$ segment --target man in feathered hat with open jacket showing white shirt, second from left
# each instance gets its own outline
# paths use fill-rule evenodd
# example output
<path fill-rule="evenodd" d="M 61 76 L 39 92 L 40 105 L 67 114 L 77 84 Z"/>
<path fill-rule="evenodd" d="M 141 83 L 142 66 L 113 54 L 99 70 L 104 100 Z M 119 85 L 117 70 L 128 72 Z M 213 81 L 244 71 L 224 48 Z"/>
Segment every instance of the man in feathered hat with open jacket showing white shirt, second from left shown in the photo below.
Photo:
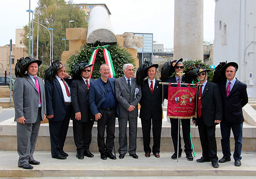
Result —
<path fill-rule="evenodd" d="M 44 74 L 47 103 L 47 118 L 51 140 L 51 154 L 55 159 L 67 159 L 63 151 L 70 123 L 72 103 L 70 96 L 71 78 L 59 61 L 54 61 Z"/>

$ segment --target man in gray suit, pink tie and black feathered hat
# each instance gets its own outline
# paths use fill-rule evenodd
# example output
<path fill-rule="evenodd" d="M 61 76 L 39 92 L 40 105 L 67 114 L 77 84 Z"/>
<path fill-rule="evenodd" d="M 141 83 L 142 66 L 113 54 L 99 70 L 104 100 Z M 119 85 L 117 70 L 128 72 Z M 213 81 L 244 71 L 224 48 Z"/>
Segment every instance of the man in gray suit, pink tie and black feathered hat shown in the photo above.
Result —
<path fill-rule="evenodd" d="M 40 60 L 20 58 L 15 66 L 13 102 L 17 122 L 18 167 L 32 169 L 39 165 L 33 157 L 41 120 L 46 117 L 44 82 L 37 77 Z M 26 73 L 27 71 L 27 73 Z M 31 165 L 30 165 L 31 164 Z"/>

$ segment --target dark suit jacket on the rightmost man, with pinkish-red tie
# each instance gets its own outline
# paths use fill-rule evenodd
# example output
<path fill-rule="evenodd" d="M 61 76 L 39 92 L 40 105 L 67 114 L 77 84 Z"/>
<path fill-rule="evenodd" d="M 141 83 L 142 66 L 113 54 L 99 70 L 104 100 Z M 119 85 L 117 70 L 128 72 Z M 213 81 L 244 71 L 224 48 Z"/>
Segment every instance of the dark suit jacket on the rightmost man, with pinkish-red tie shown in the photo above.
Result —
<path fill-rule="evenodd" d="M 244 122 L 242 108 L 248 102 L 247 85 L 236 79 L 227 97 L 226 82 L 227 80 L 223 80 L 219 84 L 223 105 L 223 120 L 232 124 L 241 124 Z"/>

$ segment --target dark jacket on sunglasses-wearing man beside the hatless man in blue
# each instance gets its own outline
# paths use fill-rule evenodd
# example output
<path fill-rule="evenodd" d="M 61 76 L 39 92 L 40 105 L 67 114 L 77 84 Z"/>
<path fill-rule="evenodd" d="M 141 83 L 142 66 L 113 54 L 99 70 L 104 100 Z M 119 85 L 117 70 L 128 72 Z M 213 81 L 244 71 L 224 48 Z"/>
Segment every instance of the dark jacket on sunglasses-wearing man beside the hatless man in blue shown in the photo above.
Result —
<path fill-rule="evenodd" d="M 90 84 L 93 79 L 90 78 Z M 71 101 L 73 112 L 72 120 L 75 119 L 75 113 L 81 112 L 81 120 L 79 122 L 86 122 L 89 118 L 93 119 L 93 115 L 89 106 L 89 90 L 83 79 L 73 80 L 70 88 Z"/>

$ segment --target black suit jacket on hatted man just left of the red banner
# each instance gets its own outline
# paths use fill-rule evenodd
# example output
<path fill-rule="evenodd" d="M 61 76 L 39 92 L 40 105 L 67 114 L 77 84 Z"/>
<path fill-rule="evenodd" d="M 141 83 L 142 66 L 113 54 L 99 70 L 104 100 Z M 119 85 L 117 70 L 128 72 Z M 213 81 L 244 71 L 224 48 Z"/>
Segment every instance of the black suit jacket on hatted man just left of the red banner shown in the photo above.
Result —
<path fill-rule="evenodd" d="M 152 118 L 152 120 L 162 120 L 163 90 L 162 85 L 160 85 L 159 82 L 159 80 L 156 80 L 153 94 L 151 94 L 148 80 L 144 81 L 144 85 L 141 87 L 140 119 L 151 120 Z"/>

